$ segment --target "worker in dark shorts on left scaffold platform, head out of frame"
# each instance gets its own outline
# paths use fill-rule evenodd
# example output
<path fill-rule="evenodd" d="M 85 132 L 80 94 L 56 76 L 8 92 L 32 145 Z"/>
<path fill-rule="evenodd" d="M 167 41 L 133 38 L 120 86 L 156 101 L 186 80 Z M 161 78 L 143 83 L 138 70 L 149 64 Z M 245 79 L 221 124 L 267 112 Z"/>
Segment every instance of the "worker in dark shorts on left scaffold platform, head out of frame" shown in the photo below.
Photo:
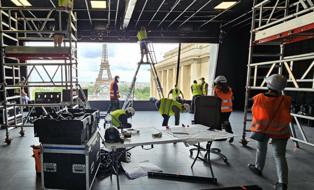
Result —
<path fill-rule="evenodd" d="M 55 14 L 55 31 L 60 30 L 59 11 L 61 11 L 61 31 L 68 31 L 69 11 L 66 8 L 73 8 L 73 0 L 58 0 L 58 6 L 63 7 L 62 10 L 57 10 Z M 55 47 L 61 47 L 65 33 L 55 33 L 53 43 Z"/>

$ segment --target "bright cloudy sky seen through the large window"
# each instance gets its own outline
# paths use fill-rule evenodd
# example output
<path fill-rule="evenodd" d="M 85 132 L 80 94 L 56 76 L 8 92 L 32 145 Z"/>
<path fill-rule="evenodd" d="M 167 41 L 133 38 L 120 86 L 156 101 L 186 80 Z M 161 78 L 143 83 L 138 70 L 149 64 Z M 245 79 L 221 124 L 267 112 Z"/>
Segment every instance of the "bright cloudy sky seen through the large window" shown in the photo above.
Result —
<path fill-rule="evenodd" d="M 27 44 L 26 44 L 27 45 Z M 53 46 L 53 43 L 31 42 L 31 46 Z M 108 59 L 110 64 L 111 75 L 120 76 L 120 81 L 130 82 L 133 79 L 137 63 L 140 60 L 140 48 L 136 43 L 108 43 Z M 178 44 L 154 44 L 154 50 L 157 61 L 163 60 L 164 53 L 178 47 Z M 78 81 L 94 81 L 96 80 L 101 63 L 102 43 L 78 43 Z M 146 61 L 146 58 L 144 58 Z M 31 61 L 32 63 L 40 63 L 42 61 Z M 50 61 L 55 63 L 57 61 Z M 50 81 L 41 66 L 36 66 L 44 80 Z M 138 82 L 149 82 L 150 73 L 149 65 L 142 65 L 137 75 Z M 57 66 L 46 66 L 51 77 Z M 39 75 L 34 72 L 31 81 L 41 81 Z M 61 81 L 61 71 L 59 70 L 54 81 Z"/>

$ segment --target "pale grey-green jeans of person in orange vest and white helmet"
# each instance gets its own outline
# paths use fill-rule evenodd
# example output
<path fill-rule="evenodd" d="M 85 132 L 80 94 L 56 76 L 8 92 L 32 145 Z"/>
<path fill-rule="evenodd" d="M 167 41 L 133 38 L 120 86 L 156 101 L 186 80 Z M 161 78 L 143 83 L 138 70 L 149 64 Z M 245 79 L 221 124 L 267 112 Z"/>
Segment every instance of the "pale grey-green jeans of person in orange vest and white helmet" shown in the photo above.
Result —
<path fill-rule="evenodd" d="M 265 135 L 263 142 L 256 141 L 256 163 L 255 167 L 263 171 L 265 166 L 268 140 L 270 137 Z M 279 183 L 288 184 L 288 164 L 286 160 L 286 146 L 288 139 L 272 139 L 273 155 L 276 162 Z"/>

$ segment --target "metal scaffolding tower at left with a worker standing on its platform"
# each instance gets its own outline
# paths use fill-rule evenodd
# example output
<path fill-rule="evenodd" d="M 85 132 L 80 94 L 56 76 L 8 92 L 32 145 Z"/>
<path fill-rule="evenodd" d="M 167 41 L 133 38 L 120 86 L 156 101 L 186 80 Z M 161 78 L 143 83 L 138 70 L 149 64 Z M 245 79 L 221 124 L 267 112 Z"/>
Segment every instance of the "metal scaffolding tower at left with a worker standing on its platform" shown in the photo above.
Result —
<path fill-rule="evenodd" d="M 15 127 L 21 127 L 19 133 L 23 136 L 25 134 L 24 127 L 33 127 L 33 125 L 26 125 L 26 121 L 30 116 L 34 107 L 41 107 L 43 112 L 47 114 L 45 106 L 70 106 L 70 108 L 78 108 L 79 103 L 83 104 L 83 107 L 90 108 L 87 98 L 85 97 L 82 88 L 78 84 L 78 61 L 77 61 L 77 16 L 72 12 L 72 8 L 66 8 L 68 10 L 68 30 L 61 30 L 61 10 L 64 8 L 34 8 L 34 7 L 2 7 L 0 2 L 0 47 L 1 47 L 1 68 L 3 80 L 1 83 L 1 91 L 3 93 L 3 101 L 1 105 L 4 106 L 3 120 L 5 122 L 6 138 L 4 142 L 10 144 L 12 138 L 9 137 L 9 131 Z M 26 18 L 23 11 L 47 11 L 46 18 Z M 53 28 L 52 30 L 45 29 L 45 25 L 48 20 L 53 20 L 50 17 L 53 11 L 59 11 L 59 29 Z M 14 12 L 14 13 L 13 13 Z M 18 13 L 22 16 L 18 18 Z M 14 14 L 14 16 L 12 16 Z M 34 21 L 43 21 L 42 26 L 39 28 L 35 25 Z M 20 23 L 21 22 L 21 23 Z M 13 24 L 12 24 L 13 23 Z M 23 30 L 19 30 L 18 25 L 24 27 Z M 4 30 L 7 29 L 7 30 Z M 34 30 L 35 29 L 35 30 Z M 66 33 L 68 37 L 64 40 L 68 41 L 68 46 L 64 43 L 64 47 L 36 47 L 36 46 L 19 46 L 19 40 L 28 41 L 42 41 L 53 40 L 53 33 Z M 73 34 L 74 33 L 74 34 Z M 49 37 L 45 37 L 49 35 Z M 10 46 L 4 43 L 13 40 L 16 46 Z M 8 63 L 9 59 L 13 59 L 15 63 Z M 28 60 L 41 60 L 41 63 L 27 63 Z M 57 62 L 51 63 L 51 60 L 63 60 L 64 63 Z M 25 63 L 21 63 L 21 62 Z M 45 66 L 57 66 L 54 73 L 49 74 Z M 20 66 L 30 66 L 30 71 L 26 76 L 24 84 L 20 82 Z M 41 66 L 50 81 L 44 81 L 36 66 Z M 30 75 L 34 72 L 38 73 L 42 81 L 29 81 Z M 55 81 L 54 77 L 57 72 L 61 71 L 61 81 Z M 7 76 L 9 72 L 12 72 L 12 76 Z M 21 102 L 21 87 L 65 87 L 70 89 L 70 103 L 57 103 L 57 104 L 22 104 Z M 18 89 L 18 96 L 9 96 L 8 91 Z M 83 97 L 86 101 L 84 105 L 83 101 L 78 98 L 78 94 L 73 96 L 73 90 L 78 92 L 81 90 Z M 17 92 L 15 90 L 15 92 Z M 8 103 L 8 100 L 19 99 L 16 104 Z M 23 106 L 30 106 L 30 111 L 26 118 L 23 120 Z M 21 113 L 16 114 L 15 107 L 21 108 Z M 14 115 L 8 116 L 8 110 L 14 109 Z M 20 122 L 17 118 L 21 118 Z M 9 120 L 14 119 L 14 125 L 8 123 Z"/>

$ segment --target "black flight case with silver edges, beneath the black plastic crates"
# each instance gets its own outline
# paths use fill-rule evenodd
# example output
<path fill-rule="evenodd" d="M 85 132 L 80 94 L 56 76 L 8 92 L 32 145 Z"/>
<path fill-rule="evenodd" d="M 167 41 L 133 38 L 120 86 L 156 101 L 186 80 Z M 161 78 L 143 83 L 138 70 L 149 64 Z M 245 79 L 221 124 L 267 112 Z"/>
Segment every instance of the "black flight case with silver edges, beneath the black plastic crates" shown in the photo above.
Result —
<path fill-rule="evenodd" d="M 82 145 L 41 143 L 41 184 L 50 190 L 89 190 L 100 165 L 97 129 Z"/>

